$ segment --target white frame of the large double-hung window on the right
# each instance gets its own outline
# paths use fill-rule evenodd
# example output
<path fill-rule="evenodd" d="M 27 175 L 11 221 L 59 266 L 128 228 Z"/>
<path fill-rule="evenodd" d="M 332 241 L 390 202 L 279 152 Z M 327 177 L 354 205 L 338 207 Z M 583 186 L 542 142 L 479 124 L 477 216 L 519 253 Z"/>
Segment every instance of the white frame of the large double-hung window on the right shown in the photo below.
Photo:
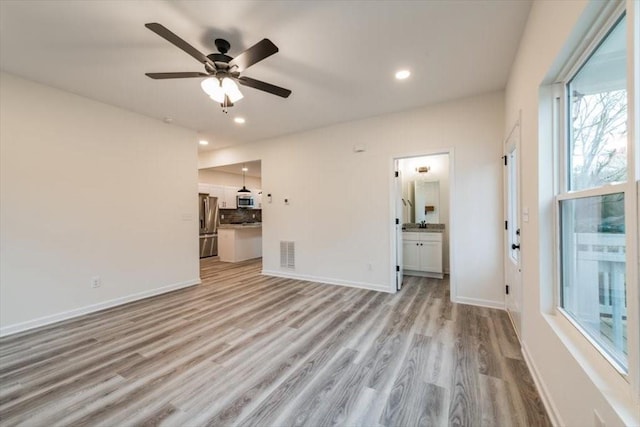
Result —
<path fill-rule="evenodd" d="M 638 269 L 640 260 L 638 258 L 638 245 L 640 240 L 639 220 L 638 220 L 638 193 L 640 192 L 640 144 L 638 143 L 637 126 L 638 118 L 638 86 L 640 82 L 636 80 L 635 74 L 638 72 L 640 58 L 638 58 L 637 26 L 640 18 L 638 13 L 640 8 L 630 5 L 625 7 L 625 2 L 614 4 L 606 8 L 601 15 L 603 18 L 598 25 L 594 26 L 589 34 L 585 35 L 585 42 L 581 48 L 576 50 L 576 54 L 567 62 L 564 70 L 556 79 L 553 86 L 553 135 L 554 135 L 554 240 L 555 240 L 555 256 L 554 256 L 554 307 L 555 312 L 560 314 L 569 322 L 577 331 L 580 332 L 582 338 L 589 342 L 609 363 L 612 369 L 620 374 L 620 376 L 629 383 L 633 394 L 640 395 L 640 324 L 638 311 L 640 309 Z M 629 9 L 629 10 L 626 10 Z M 567 114 L 567 93 L 566 88 L 569 81 L 578 73 L 584 63 L 588 61 L 592 53 L 597 49 L 604 38 L 609 34 L 623 14 L 627 16 L 627 105 L 628 105 L 628 134 L 627 134 L 627 179 L 624 183 L 609 184 L 598 188 L 589 188 L 586 190 L 567 191 L 568 188 L 568 136 L 567 123 L 569 115 Z M 630 13 L 629 13 L 630 12 Z M 637 40 L 637 39 L 636 39 Z M 635 73 L 635 74 L 634 74 Z M 626 243 L 626 280 L 627 280 L 627 369 L 626 372 L 608 353 L 595 342 L 586 331 L 561 307 L 561 214 L 560 203 L 564 200 L 581 199 L 591 196 L 601 196 L 613 193 L 624 193 L 625 200 L 625 243 Z"/>

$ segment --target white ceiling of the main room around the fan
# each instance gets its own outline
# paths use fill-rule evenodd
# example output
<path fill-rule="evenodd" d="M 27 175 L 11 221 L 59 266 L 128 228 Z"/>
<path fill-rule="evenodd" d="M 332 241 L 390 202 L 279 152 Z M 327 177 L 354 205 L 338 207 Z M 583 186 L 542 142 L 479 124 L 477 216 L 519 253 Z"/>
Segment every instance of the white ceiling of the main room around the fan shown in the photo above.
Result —
<path fill-rule="evenodd" d="M 201 150 L 256 141 L 504 88 L 529 13 L 525 0 L 0 1 L 0 68 L 175 125 Z M 203 66 L 144 27 L 159 22 L 205 54 L 235 56 L 262 38 L 280 52 L 243 75 L 291 89 L 241 86 L 227 114 L 200 79 L 145 72 Z M 393 74 L 409 68 L 412 76 Z M 237 125 L 235 116 L 246 118 Z M 197 141 L 194 141 L 197 144 Z"/>

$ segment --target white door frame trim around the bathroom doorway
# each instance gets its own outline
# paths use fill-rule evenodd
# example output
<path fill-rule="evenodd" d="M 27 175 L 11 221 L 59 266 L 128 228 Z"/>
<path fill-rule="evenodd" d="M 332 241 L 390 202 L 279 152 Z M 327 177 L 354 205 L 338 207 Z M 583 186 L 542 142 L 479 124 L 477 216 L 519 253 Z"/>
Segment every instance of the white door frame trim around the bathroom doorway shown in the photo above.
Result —
<path fill-rule="evenodd" d="M 395 155 L 389 159 L 389 241 L 391 242 L 390 246 L 390 257 L 389 257 L 389 291 L 391 293 L 396 293 L 396 265 L 401 265 L 402 260 L 398 259 L 397 256 L 397 245 L 402 245 L 402 241 L 398 241 L 397 233 L 396 233 L 396 203 L 399 199 L 402 198 L 402 194 L 398 194 L 396 190 L 396 162 L 402 159 L 410 159 L 413 157 L 428 157 L 428 156 L 436 156 L 441 154 L 447 154 L 449 156 L 449 289 L 450 295 L 449 298 L 451 301 L 455 301 L 458 295 L 458 287 L 457 287 L 457 268 L 456 268 L 456 257 L 455 257 L 455 247 L 456 247 L 456 230 L 457 230 L 457 217 L 455 212 L 455 155 L 454 148 L 440 148 L 433 150 L 424 150 L 417 153 L 406 153 L 402 155 Z M 400 218 L 402 223 L 402 218 Z M 400 263 L 400 264 L 398 264 Z"/>

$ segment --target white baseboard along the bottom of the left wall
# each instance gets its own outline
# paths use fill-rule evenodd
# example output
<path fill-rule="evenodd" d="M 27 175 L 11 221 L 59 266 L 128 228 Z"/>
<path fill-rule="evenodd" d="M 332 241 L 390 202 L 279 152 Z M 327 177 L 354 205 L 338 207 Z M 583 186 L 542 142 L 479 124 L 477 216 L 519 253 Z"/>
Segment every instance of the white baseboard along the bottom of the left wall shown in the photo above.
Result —
<path fill-rule="evenodd" d="M 94 313 L 96 311 L 104 310 L 106 308 L 111 308 L 117 305 L 122 305 L 129 302 L 141 300 L 144 298 L 149 298 L 155 295 L 164 294 L 167 292 L 175 291 L 178 289 L 186 288 L 186 287 L 197 285 L 200 283 L 201 283 L 201 280 L 198 277 L 197 279 L 187 280 L 179 283 L 173 283 L 171 285 L 163 286 L 161 288 L 138 292 L 136 294 L 127 295 L 121 298 L 116 298 L 109 301 L 100 302 L 97 304 L 87 305 L 84 307 L 75 308 L 73 310 L 63 311 L 62 313 L 56 313 L 49 316 L 39 317 L 37 319 L 27 320 L 26 322 L 14 323 L 13 325 L 1 327 L 0 337 L 17 334 L 19 332 L 28 331 L 29 329 L 39 328 L 41 326 L 50 325 L 52 323 L 57 323 L 63 320 L 72 319 L 74 317 L 82 316 L 84 314 Z"/>

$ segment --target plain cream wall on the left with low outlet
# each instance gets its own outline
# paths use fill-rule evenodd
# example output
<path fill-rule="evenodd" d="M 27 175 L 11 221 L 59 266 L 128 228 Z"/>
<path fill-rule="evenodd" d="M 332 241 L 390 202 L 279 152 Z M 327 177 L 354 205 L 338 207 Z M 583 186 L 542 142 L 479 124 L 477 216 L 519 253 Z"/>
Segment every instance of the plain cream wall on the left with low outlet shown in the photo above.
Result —
<path fill-rule="evenodd" d="M 0 94 L 0 333 L 199 282 L 195 132 L 4 73 Z"/>

